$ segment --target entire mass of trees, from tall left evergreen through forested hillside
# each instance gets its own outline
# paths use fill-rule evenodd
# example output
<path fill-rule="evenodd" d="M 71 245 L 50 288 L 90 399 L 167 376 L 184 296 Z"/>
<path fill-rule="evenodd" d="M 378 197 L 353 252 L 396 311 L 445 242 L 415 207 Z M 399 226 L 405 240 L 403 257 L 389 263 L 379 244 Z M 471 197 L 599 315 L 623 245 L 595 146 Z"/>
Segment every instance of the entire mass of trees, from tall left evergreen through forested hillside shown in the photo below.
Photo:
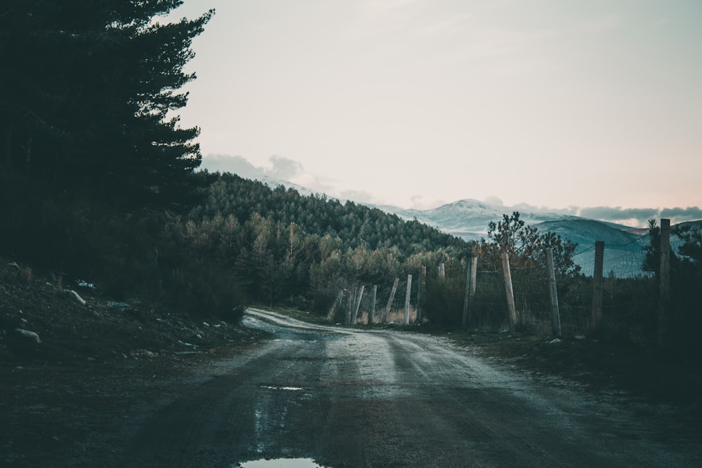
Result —
<path fill-rule="evenodd" d="M 0 7 L 0 253 L 57 282 L 233 318 L 254 302 L 321 311 L 335 288 L 467 255 L 380 210 L 195 173 L 199 128 L 177 112 L 214 11 L 162 22 L 181 3 Z"/>

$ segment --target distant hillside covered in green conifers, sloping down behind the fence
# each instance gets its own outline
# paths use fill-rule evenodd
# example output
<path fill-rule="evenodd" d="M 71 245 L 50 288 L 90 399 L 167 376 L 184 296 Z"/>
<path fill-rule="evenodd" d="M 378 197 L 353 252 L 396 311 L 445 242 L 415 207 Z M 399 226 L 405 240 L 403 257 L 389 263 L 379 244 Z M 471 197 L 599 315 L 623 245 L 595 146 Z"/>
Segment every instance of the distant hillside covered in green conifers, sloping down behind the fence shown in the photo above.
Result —
<path fill-rule="evenodd" d="M 233 272 L 249 302 L 326 312 L 338 290 L 392 283 L 427 262 L 461 260 L 469 244 L 417 221 L 324 196 L 270 189 L 236 175 L 213 180 L 206 201 L 169 224 L 195 255 Z M 312 302 L 310 302 L 312 301 Z"/>

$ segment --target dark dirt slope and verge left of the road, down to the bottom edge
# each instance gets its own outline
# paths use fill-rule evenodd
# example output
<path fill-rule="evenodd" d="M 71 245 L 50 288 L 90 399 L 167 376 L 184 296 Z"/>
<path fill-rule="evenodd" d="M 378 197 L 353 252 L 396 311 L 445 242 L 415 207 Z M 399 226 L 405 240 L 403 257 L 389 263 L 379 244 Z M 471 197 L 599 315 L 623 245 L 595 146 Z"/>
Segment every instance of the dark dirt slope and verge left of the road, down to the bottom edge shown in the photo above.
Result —
<path fill-rule="evenodd" d="M 75 283 L 59 288 L 0 258 L 0 466 L 71 460 L 135 405 L 177 391 L 193 368 L 257 335 Z"/>

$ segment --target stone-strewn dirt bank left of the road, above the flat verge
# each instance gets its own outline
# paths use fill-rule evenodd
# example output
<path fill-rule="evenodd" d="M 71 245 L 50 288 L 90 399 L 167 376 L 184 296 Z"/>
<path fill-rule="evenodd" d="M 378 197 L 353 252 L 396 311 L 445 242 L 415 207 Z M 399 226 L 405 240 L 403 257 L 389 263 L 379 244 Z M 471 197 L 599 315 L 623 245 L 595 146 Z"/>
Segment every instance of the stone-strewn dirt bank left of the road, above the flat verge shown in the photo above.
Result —
<path fill-rule="evenodd" d="M 114 300 L 92 285 L 60 285 L 0 258 L 0 361 L 6 364 L 154 357 L 243 334 L 232 324 L 194 321 L 158 304 Z"/>

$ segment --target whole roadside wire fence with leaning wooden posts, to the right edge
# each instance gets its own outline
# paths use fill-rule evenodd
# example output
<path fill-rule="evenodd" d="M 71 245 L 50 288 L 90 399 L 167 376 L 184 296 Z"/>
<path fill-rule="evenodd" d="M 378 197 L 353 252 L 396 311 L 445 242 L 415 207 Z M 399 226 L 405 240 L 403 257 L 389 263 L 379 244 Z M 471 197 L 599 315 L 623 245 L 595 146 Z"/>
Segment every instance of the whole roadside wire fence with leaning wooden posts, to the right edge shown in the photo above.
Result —
<path fill-rule="evenodd" d="M 628 243 L 604 245 L 602 250 L 585 246 L 574 253 L 580 271 L 554 273 L 555 285 L 546 262 L 527 266 L 508 262 L 507 275 L 504 264 L 479 259 L 475 283 L 470 281 L 470 262 L 465 260 L 428 265 L 423 271 L 411 269 L 411 278 L 377 285 L 374 297 L 373 285 L 365 285 L 363 295 L 362 285 L 347 287 L 330 318 L 334 315 L 338 322 L 352 323 L 353 314 L 347 311 L 357 311 L 357 324 L 432 323 L 470 330 L 602 337 L 635 345 L 658 341 L 662 346 L 664 335 L 675 335 L 679 342 L 696 340 L 691 334 L 702 328 L 702 271 L 694 262 L 683 265 L 676 260 L 677 267 L 669 265 L 670 285 L 665 286 L 671 297 L 665 297 L 663 269 L 655 274 L 644 270 L 644 265 L 651 269 L 649 241 L 648 236 L 640 236 Z M 669 243 L 669 247 L 674 252 L 677 246 Z M 662 264 L 663 257 L 657 258 Z"/>

